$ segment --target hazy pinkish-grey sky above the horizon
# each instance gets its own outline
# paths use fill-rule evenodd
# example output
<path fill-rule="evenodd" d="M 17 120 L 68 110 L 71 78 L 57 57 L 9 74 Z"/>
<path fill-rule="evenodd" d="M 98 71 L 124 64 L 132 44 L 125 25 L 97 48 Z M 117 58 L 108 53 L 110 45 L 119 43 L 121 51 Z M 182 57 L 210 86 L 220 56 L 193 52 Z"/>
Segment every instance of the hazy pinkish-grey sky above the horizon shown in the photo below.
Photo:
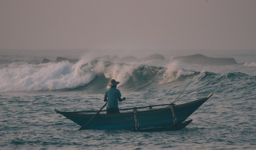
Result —
<path fill-rule="evenodd" d="M 0 49 L 256 49 L 256 0 L 0 0 Z"/>

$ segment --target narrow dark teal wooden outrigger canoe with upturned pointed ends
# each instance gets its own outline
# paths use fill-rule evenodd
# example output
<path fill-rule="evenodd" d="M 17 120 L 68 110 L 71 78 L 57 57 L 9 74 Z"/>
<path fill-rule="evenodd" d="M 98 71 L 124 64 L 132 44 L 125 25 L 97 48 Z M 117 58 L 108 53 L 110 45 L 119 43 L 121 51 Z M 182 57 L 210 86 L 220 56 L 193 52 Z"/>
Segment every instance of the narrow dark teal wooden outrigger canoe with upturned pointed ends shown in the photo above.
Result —
<path fill-rule="evenodd" d="M 178 130 L 184 128 L 192 121 L 192 119 L 188 121 L 185 120 L 211 96 L 212 93 L 202 99 L 180 105 L 163 104 L 120 109 L 121 113 L 119 114 L 106 114 L 100 113 L 99 111 L 66 112 L 58 111 L 57 109 L 54 109 L 54 111 L 80 125 L 80 130 Z M 162 108 L 153 108 L 160 106 L 162 106 Z M 126 112 L 122 113 L 122 111 Z"/>

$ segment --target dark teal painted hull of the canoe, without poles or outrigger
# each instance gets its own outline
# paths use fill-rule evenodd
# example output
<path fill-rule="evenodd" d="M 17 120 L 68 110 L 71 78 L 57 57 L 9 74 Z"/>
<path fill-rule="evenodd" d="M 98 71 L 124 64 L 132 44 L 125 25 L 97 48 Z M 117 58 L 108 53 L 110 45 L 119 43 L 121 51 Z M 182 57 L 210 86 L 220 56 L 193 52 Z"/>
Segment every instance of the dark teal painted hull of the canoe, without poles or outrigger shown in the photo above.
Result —
<path fill-rule="evenodd" d="M 205 101 L 212 96 L 212 93 L 203 99 L 192 101 L 181 105 L 174 105 L 174 113 L 176 115 L 176 123 L 182 124 L 194 111 L 196 111 Z M 76 112 L 62 112 L 56 110 L 66 118 L 72 120 L 80 126 L 84 126 L 95 114 L 76 113 Z M 120 114 L 97 114 L 86 129 L 104 130 L 104 129 L 125 129 L 132 130 L 133 128 L 149 129 L 149 128 L 163 128 L 170 127 L 174 124 L 174 117 L 170 107 L 150 110 L 137 110 L 136 118 L 138 126 L 134 118 L 134 112 L 120 113 Z M 192 120 L 191 120 L 192 121 Z M 190 122 L 191 122 L 190 121 Z M 189 122 L 189 123 L 190 123 Z M 188 124 L 189 124 L 188 123 Z M 187 125 L 187 124 L 186 124 Z M 180 125 L 182 126 L 182 125 Z M 174 127 L 174 126 L 172 126 Z"/>

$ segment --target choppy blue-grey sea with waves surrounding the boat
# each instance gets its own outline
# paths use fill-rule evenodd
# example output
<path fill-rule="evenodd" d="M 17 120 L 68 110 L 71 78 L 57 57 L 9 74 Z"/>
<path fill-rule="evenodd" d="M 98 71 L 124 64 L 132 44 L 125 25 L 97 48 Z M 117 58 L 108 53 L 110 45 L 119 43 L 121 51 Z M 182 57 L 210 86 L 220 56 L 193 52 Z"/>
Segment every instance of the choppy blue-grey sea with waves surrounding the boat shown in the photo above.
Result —
<path fill-rule="evenodd" d="M 1 150 L 256 149 L 255 49 L 88 51 L 0 50 Z M 174 60 L 194 54 L 237 64 Z M 78 130 L 54 111 L 98 111 L 111 79 L 126 97 L 120 109 L 213 95 L 174 131 Z"/>

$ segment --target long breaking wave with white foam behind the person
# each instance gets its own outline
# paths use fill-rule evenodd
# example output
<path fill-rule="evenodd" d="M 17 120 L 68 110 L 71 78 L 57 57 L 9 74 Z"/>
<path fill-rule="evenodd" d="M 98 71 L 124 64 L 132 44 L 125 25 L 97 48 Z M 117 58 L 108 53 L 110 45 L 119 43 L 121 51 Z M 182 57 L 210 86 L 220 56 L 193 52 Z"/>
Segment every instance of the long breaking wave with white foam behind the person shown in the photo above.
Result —
<path fill-rule="evenodd" d="M 118 87 L 140 91 L 165 87 L 170 89 L 187 84 L 218 85 L 226 78 L 241 73 L 220 75 L 205 71 L 186 70 L 174 62 L 162 67 L 146 64 L 114 63 L 81 59 L 77 63 L 29 64 L 12 63 L 0 69 L 0 91 L 89 90 L 102 92 L 110 79 L 120 81 Z M 246 76 L 246 74 L 242 74 Z"/>

